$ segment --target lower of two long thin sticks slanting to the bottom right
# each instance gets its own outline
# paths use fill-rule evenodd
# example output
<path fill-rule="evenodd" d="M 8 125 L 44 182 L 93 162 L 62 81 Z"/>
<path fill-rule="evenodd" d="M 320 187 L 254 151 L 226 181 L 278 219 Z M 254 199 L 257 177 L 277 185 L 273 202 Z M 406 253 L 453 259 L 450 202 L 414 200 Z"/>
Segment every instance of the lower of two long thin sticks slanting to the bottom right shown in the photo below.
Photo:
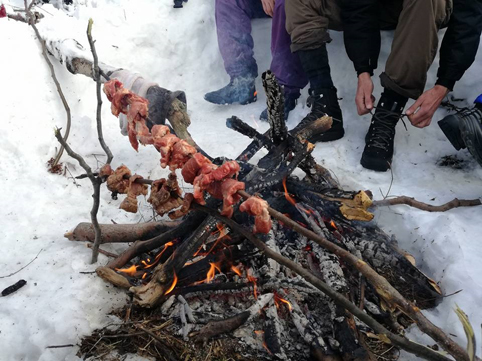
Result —
<path fill-rule="evenodd" d="M 414 355 L 417 355 L 418 357 L 422 357 L 426 360 L 437 360 L 437 361 L 449 361 L 450 359 L 443 356 L 442 354 L 425 347 L 423 345 L 420 345 L 418 343 L 412 342 L 405 337 L 396 335 L 389 330 L 387 330 L 383 325 L 378 323 L 376 320 L 374 320 L 372 317 L 370 317 L 368 314 L 365 312 L 361 311 L 356 305 L 354 305 L 351 301 L 349 301 L 347 298 L 342 296 L 341 294 L 335 292 L 332 288 L 330 288 L 326 283 L 324 283 L 322 280 L 320 280 L 318 277 L 316 277 L 313 273 L 310 271 L 302 268 L 300 265 L 297 263 L 291 261 L 290 259 L 282 256 L 281 254 L 273 251 L 271 248 L 266 246 L 265 243 L 260 241 L 256 236 L 254 236 L 251 231 L 247 230 L 246 228 L 242 227 L 232 219 L 223 217 L 219 215 L 219 213 L 215 210 L 212 210 L 210 208 L 200 206 L 196 204 L 195 209 L 202 210 L 203 212 L 206 212 L 207 214 L 219 219 L 223 223 L 225 223 L 227 226 L 229 226 L 232 230 L 241 233 L 244 237 L 246 237 L 251 243 L 253 243 L 259 250 L 261 250 L 267 257 L 275 260 L 279 264 L 289 268 L 293 272 L 299 274 L 301 277 L 303 277 L 306 281 L 311 283 L 313 286 L 318 288 L 321 292 L 326 294 L 328 297 L 330 297 L 336 304 L 344 307 L 348 312 L 352 313 L 354 316 L 358 317 L 361 321 L 363 321 L 365 324 L 367 324 L 369 327 L 371 327 L 375 332 L 377 332 L 380 335 L 385 335 L 394 345 L 404 349 L 407 352 L 410 352 Z M 283 221 L 284 222 L 284 221 Z M 446 346 L 446 345 L 445 345 Z M 458 345 L 457 345 L 458 346 Z M 463 351 L 463 350 L 462 350 Z M 460 353 L 459 356 L 464 356 L 464 353 Z M 465 353 L 465 356 L 467 354 Z M 465 358 L 456 358 L 457 360 L 465 360 Z M 468 356 L 467 356 L 468 360 Z"/>

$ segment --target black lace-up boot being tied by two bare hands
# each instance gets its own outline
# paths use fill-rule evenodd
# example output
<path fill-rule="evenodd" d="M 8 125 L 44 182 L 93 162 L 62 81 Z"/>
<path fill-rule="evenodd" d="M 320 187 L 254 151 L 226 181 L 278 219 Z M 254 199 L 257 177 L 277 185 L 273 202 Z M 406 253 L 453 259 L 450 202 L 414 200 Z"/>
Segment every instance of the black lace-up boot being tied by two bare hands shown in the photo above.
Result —
<path fill-rule="evenodd" d="M 392 91 L 383 92 L 365 137 L 366 145 L 360 161 L 363 167 L 379 172 L 386 172 L 391 167 L 395 126 L 407 100 Z"/>

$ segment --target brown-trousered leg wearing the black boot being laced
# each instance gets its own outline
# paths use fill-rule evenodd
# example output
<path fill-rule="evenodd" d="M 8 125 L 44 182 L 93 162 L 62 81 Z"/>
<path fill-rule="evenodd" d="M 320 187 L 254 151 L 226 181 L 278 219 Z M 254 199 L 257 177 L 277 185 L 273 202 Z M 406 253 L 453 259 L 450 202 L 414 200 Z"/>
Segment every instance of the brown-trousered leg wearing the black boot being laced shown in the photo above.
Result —
<path fill-rule="evenodd" d="M 361 164 L 367 169 L 385 172 L 391 168 L 396 125 L 408 98 L 416 99 L 423 93 L 437 52 L 437 32 L 447 21 L 448 1 L 398 0 L 382 9 L 381 24 L 390 26 L 397 18 L 398 23 L 385 72 L 380 76 L 384 92 L 365 138 Z"/>

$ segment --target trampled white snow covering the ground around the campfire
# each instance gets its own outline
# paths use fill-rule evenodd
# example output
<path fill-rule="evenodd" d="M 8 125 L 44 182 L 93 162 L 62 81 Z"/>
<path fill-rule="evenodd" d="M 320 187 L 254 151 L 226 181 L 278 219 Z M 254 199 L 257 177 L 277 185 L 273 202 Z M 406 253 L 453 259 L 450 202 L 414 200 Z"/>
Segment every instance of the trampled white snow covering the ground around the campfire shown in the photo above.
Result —
<path fill-rule="evenodd" d="M 0 0 L 1 2 L 1 0 Z M 3 1 L 22 6 L 21 0 Z M 184 90 L 192 119 L 190 132 L 208 153 L 235 157 L 249 140 L 225 127 L 233 114 L 259 126 L 265 97 L 248 106 L 215 106 L 203 94 L 225 85 L 228 76 L 217 48 L 214 0 L 189 1 L 184 9 L 172 2 L 150 0 L 78 0 L 69 12 L 44 5 L 45 18 L 38 24 L 43 36 L 75 38 L 88 49 L 85 36 L 89 17 L 94 19 L 93 35 L 102 62 L 133 71 L 172 90 Z M 0 289 L 19 279 L 28 283 L 17 293 L 0 299 L 0 360 L 76 360 L 76 347 L 46 349 L 49 345 L 76 344 L 82 336 L 109 322 L 108 312 L 126 300 L 124 291 L 107 285 L 93 274 L 105 264 L 89 263 L 91 251 L 81 243 L 69 242 L 64 232 L 89 220 L 91 186 L 88 180 L 74 182 L 67 176 L 52 175 L 45 163 L 58 147 L 54 128 L 65 128 L 65 112 L 51 80 L 48 67 L 33 30 L 26 24 L 0 19 L 0 277 L 9 275 L 38 258 L 14 276 L 0 278 Z M 270 21 L 253 21 L 256 57 L 260 72 L 270 63 Z M 390 188 L 391 174 L 375 173 L 361 167 L 369 117 L 358 117 L 354 106 L 356 76 L 343 48 L 341 34 L 333 34 L 329 45 L 333 77 L 343 98 L 346 136 L 336 142 L 318 144 L 315 158 L 331 169 L 340 183 L 352 189 L 370 189 L 381 199 Z M 386 59 L 389 37 L 384 35 L 380 63 Z M 456 85 L 454 95 L 472 101 L 482 92 L 482 54 Z M 95 129 L 96 96 L 94 82 L 74 76 L 54 61 L 73 124 L 69 143 L 97 168 L 105 159 Z M 430 71 L 428 86 L 435 81 L 437 64 Z M 379 70 L 380 71 L 380 70 Z M 378 71 L 378 73 L 379 73 Z M 378 82 L 377 82 L 378 83 Z M 258 83 L 258 89 L 262 89 Z M 380 94 L 377 86 L 376 94 Z M 291 113 L 289 127 L 295 126 L 308 109 L 306 90 Z M 435 119 L 444 115 L 440 110 Z M 136 153 L 120 134 L 118 120 L 104 103 L 103 124 L 106 142 L 113 151 L 113 165 L 126 164 L 145 177 L 158 178 L 165 171 L 152 147 Z M 255 121 L 256 120 L 256 121 Z M 393 185 L 390 195 L 408 195 L 434 204 L 455 197 L 482 196 L 482 168 L 467 152 L 461 170 L 440 167 L 437 161 L 455 154 L 435 122 L 420 130 L 408 124 L 397 127 Z M 82 173 L 67 156 L 62 161 L 73 175 Z M 100 221 L 109 223 L 148 220 L 151 211 L 144 202 L 140 215 L 118 210 L 120 200 L 102 193 Z M 424 272 L 440 281 L 447 297 L 426 315 L 465 345 L 463 329 L 453 312 L 458 304 L 469 316 L 479 342 L 482 323 L 482 208 L 459 208 L 446 213 L 426 213 L 405 206 L 376 211 L 375 222 L 393 233 L 402 248 L 411 252 Z M 107 247 L 106 247 L 107 248 Z M 108 250 L 116 250 L 114 247 Z M 480 263 L 479 263 L 480 262 Z M 426 338 L 412 334 L 422 342 Z M 403 356 L 409 359 L 408 356 Z"/>

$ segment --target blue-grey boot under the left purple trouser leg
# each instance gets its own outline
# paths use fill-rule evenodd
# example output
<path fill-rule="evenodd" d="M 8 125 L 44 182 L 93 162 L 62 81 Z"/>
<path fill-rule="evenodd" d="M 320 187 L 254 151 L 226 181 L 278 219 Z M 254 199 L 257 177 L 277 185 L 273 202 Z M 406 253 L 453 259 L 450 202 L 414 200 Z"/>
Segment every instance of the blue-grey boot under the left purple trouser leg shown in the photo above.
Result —
<path fill-rule="evenodd" d="M 253 78 L 233 78 L 224 88 L 206 93 L 204 99 L 214 104 L 249 104 L 256 101 Z"/>

